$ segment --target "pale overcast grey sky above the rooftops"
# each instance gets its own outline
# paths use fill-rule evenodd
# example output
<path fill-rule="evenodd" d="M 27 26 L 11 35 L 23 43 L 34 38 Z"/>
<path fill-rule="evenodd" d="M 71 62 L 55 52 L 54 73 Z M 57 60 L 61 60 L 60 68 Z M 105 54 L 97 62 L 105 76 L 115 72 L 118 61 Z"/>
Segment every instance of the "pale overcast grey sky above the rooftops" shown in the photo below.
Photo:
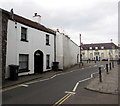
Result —
<path fill-rule="evenodd" d="M 41 23 L 64 30 L 79 45 L 83 43 L 118 43 L 119 0 L 0 0 L 0 8 L 31 19 L 35 12 Z"/>

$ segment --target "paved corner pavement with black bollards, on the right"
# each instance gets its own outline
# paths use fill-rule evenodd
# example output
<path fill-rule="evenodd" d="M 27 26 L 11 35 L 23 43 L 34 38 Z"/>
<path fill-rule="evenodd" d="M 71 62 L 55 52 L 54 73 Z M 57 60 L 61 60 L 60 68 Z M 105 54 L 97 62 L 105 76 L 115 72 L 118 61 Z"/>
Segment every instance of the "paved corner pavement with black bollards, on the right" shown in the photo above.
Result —
<path fill-rule="evenodd" d="M 106 71 L 103 71 L 102 82 L 100 82 L 99 76 L 97 76 L 93 78 L 85 88 L 100 93 L 118 94 L 119 69 L 120 65 L 116 65 L 112 70 L 109 69 L 109 74 L 107 74 Z"/>

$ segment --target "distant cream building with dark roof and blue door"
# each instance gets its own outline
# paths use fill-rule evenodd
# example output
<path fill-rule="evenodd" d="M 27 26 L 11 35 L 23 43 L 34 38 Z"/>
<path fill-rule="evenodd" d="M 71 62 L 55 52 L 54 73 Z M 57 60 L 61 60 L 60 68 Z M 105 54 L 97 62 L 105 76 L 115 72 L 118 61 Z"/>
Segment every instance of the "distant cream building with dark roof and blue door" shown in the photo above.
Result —
<path fill-rule="evenodd" d="M 119 47 L 114 43 L 82 44 L 83 60 L 117 60 Z"/>

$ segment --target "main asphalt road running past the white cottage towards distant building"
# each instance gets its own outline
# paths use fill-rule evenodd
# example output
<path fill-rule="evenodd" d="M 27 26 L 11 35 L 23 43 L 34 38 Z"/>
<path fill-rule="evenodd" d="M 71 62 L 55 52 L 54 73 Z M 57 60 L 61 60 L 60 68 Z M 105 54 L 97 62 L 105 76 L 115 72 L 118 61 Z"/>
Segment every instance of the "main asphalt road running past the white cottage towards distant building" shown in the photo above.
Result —
<path fill-rule="evenodd" d="M 78 81 L 97 72 L 98 66 L 100 65 L 73 70 L 5 91 L 2 93 L 3 104 L 54 104 L 66 95 L 66 91 L 72 91 Z"/>

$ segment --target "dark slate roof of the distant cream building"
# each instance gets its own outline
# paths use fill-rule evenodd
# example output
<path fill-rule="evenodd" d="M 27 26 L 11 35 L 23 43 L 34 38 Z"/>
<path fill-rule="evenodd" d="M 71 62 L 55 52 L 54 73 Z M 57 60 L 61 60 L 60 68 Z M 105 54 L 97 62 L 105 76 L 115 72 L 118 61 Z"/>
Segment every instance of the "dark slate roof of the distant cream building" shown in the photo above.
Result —
<path fill-rule="evenodd" d="M 82 44 L 81 47 L 83 50 L 90 50 L 90 47 L 92 47 L 92 50 L 95 50 L 95 47 L 98 47 L 98 50 L 103 50 L 101 47 L 104 47 L 104 49 L 119 49 L 114 43 Z"/>

